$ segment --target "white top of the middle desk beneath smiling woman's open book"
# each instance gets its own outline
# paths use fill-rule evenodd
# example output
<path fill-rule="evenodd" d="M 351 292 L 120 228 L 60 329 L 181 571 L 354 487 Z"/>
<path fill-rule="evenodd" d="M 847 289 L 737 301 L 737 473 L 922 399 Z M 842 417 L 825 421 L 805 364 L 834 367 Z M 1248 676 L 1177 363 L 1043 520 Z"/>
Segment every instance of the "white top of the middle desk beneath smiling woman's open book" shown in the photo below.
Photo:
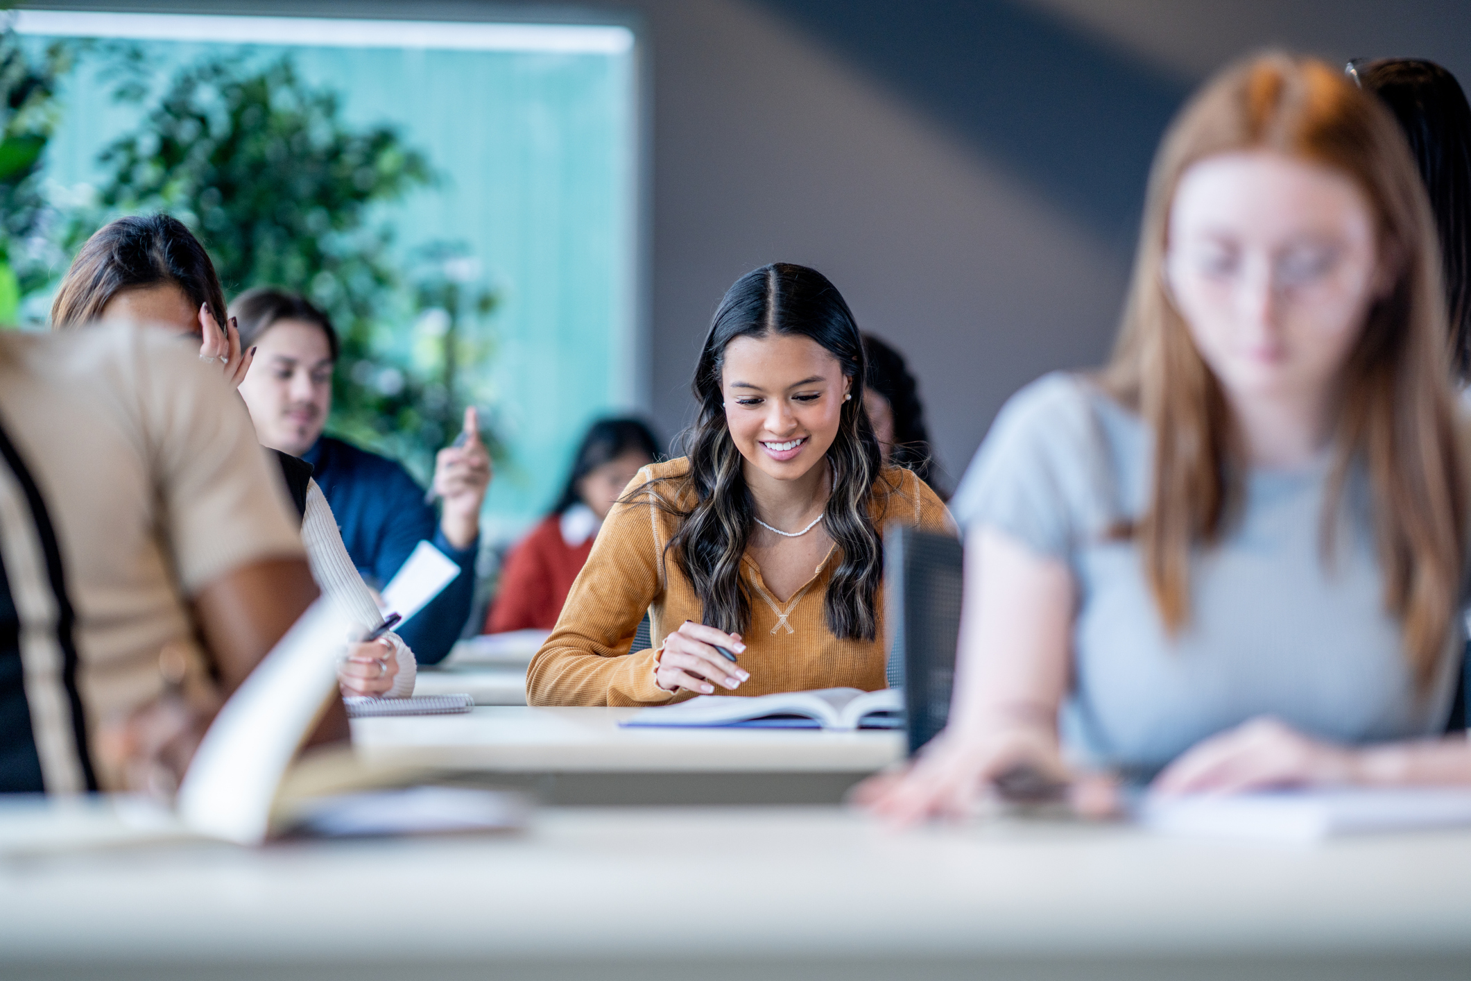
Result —
<path fill-rule="evenodd" d="M 503 772 L 872 772 L 903 757 L 903 732 L 625 729 L 637 709 L 477 707 L 465 715 L 353 719 L 368 763 Z"/>

